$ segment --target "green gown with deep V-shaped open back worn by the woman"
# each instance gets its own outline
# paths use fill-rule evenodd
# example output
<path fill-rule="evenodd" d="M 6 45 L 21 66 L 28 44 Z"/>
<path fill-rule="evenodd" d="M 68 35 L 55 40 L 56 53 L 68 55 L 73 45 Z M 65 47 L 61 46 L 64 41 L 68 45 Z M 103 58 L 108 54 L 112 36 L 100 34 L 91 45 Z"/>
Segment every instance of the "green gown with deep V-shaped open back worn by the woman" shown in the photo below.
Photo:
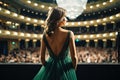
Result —
<path fill-rule="evenodd" d="M 43 40 L 50 57 L 33 80 L 77 80 L 75 69 L 69 56 L 70 32 L 68 32 L 66 41 L 57 56 L 53 53 L 45 35 L 43 35 Z"/>

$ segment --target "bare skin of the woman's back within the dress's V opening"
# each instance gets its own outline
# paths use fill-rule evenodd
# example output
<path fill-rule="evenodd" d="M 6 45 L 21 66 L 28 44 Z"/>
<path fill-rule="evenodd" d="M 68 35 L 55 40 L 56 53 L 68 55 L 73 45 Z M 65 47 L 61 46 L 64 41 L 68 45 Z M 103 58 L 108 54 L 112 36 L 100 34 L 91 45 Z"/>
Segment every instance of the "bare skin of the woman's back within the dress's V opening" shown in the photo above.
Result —
<path fill-rule="evenodd" d="M 52 37 L 46 35 L 49 46 L 51 47 L 54 55 L 58 56 L 63 48 L 68 35 L 68 30 L 59 29 Z"/>

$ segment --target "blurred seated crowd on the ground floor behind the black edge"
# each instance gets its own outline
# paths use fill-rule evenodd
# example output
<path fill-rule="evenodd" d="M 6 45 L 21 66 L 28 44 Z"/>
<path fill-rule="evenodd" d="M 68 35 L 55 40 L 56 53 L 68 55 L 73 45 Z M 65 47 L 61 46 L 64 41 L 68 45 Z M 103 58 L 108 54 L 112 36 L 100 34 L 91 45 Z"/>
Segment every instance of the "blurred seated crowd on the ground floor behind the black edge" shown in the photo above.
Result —
<path fill-rule="evenodd" d="M 113 48 L 77 47 L 76 51 L 79 63 L 118 63 L 118 53 Z M 46 50 L 46 59 L 48 57 Z M 41 63 L 40 48 L 15 49 L 7 55 L 0 54 L 0 63 Z"/>

